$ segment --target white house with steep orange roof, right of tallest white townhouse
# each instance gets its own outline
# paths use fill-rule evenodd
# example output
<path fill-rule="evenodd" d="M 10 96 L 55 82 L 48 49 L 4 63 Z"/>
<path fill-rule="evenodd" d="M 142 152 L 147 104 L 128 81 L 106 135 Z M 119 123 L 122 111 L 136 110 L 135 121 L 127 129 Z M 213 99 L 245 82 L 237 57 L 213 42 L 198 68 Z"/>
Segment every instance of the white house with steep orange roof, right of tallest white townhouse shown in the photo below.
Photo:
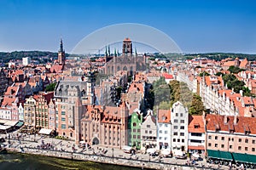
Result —
<path fill-rule="evenodd" d="M 204 116 L 189 115 L 188 150 L 190 153 L 205 153 L 206 130 Z"/>

